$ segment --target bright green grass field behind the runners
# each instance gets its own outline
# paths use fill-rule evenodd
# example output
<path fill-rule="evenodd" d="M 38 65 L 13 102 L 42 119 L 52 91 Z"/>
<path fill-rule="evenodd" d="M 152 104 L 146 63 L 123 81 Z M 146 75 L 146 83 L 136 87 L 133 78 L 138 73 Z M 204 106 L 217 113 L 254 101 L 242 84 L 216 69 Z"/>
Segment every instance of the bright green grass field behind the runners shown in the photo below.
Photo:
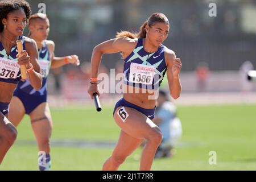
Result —
<path fill-rule="evenodd" d="M 154 160 L 152 170 L 256 170 L 256 105 L 179 106 L 183 137 L 176 155 Z M 52 140 L 116 142 L 119 127 L 113 107 L 101 113 L 92 108 L 52 108 Z M 38 149 L 28 117 L 18 127 L 18 139 L 0 170 L 38 170 Z M 32 142 L 32 143 L 31 143 Z M 52 170 L 101 170 L 113 147 L 51 147 Z M 210 165 L 209 151 L 217 152 Z M 138 148 L 119 170 L 138 170 Z"/>

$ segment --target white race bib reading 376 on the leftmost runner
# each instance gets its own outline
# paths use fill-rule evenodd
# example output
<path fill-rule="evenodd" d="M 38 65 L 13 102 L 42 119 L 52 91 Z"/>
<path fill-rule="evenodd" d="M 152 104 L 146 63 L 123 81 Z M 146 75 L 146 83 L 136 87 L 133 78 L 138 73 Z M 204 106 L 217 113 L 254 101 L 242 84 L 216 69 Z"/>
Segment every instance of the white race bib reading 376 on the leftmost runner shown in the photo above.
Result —
<path fill-rule="evenodd" d="M 0 57 L 0 78 L 16 78 L 19 69 L 17 61 Z"/>

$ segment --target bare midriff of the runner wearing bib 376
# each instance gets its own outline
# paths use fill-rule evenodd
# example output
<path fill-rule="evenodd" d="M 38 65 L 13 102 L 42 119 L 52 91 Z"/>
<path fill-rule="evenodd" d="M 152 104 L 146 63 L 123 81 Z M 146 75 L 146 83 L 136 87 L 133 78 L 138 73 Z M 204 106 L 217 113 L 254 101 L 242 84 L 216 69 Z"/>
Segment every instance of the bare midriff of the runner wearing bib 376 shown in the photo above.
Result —
<path fill-rule="evenodd" d="M 16 84 L 0 81 L 0 102 L 11 102 Z"/>

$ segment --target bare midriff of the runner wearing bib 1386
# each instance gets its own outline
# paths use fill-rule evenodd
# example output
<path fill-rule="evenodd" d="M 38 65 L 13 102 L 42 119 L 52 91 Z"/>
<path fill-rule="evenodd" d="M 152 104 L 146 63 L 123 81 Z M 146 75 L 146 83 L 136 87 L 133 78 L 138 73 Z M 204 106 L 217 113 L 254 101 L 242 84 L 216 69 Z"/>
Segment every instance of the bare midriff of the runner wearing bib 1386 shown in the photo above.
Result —
<path fill-rule="evenodd" d="M 146 90 L 142 88 L 134 88 L 133 86 L 126 86 L 125 93 L 123 93 L 123 98 L 139 107 L 143 107 L 144 109 L 154 109 L 155 107 L 155 91 Z M 135 90 L 137 89 L 137 90 Z"/>

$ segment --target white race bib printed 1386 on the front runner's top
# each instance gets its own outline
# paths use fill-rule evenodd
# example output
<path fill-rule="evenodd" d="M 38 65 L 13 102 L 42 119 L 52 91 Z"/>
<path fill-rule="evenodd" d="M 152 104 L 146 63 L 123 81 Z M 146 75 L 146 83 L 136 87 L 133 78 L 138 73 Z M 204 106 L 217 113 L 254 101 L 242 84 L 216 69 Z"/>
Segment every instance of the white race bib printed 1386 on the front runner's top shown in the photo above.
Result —
<path fill-rule="evenodd" d="M 155 75 L 155 67 L 138 63 L 131 63 L 129 82 L 150 85 Z"/>

